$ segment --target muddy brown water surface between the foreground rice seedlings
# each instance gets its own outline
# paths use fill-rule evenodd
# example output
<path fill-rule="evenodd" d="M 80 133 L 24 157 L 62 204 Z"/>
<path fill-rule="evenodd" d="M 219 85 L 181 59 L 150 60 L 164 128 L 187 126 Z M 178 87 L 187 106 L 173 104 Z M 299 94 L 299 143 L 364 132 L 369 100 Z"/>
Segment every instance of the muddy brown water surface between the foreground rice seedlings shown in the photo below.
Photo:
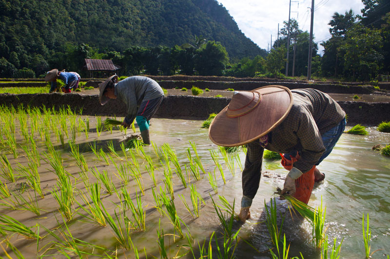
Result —
<path fill-rule="evenodd" d="M 90 122 L 92 129 L 94 117 L 90 117 Z M 190 190 L 189 188 L 184 188 L 175 171 L 173 173 L 177 214 L 183 223 L 188 226 L 187 230 L 184 224 L 182 224 L 183 232 L 191 233 L 191 236 L 195 240 L 192 241 L 192 244 L 195 242 L 196 247 L 197 242 L 202 243 L 204 240 L 206 240 L 208 244 L 213 231 L 219 233 L 221 230 L 215 209 L 212 206 L 211 197 L 217 204 L 221 204 L 218 195 L 225 197 L 231 205 L 233 205 L 235 201 L 235 211 L 239 211 L 242 190 L 241 169 L 238 165 L 238 161 L 241 161 L 242 166 L 245 160 L 243 151 L 233 154 L 238 155 L 239 157 L 239 159 L 234 160 L 235 173 L 233 175 L 226 167 L 222 156 L 220 155 L 219 162 L 222 164 L 226 179 L 226 184 L 224 184 L 210 155 L 210 149 L 218 151 L 218 147 L 208 138 L 208 130 L 200 128 L 201 123 L 202 121 L 169 119 L 152 119 L 151 121 L 152 141 L 154 141 L 156 147 L 161 147 L 164 143 L 169 143 L 169 145 L 175 149 L 183 171 L 184 165 L 189 165 L 187 149 L 190 149 L 192 157 L 195 157 L 194 151 L 189 143 L 189 141 L 192 141 L 196 145 L 197 153 L 205 171 L 215 171 L 217 176 L 218 194 L 215 194 L 215 191 L 212 189 L 207 174 L 201 173 L 201 179 L 199 181 L 195 181 L 192 176 L 186 177 L 187 185 L 195 184 L 197 191 L 205 200 L 205 204 L 201 205 L 199 218 L 194 219 L 184 207 L 182 199 L 180 198 L 180 196 L 183 195 L 182 197 L 185 198 L 189 207 L 192 208 Z M 127 133 L 129 132 L 131 132 L 130 129 Z M 309 202 L 309 205 L 312 207 L 317 207 L 321 203 L 322 197 L 323 205 L 327 207 L 326 226 L 328 226 L 327 233 L 329 241 L 332 242 L 333 239 L 336 239 L 337 242 L 341 242 L 344 238 L 341 248 L 342 258 L 364 258 L 361 227 L 363 213 L 365 215 L 367 215 L 367 213 L 370 214 L 372 235 L 371 251 L 382 249 L 381 251 L 375 252 L 373 258 L 386 258 L 384 254 L 390 253 L 388 245 L 390 243 L 390 158 L 380 155 L 377 151 L 371 150 L 372 146 L 376 144 L 384 146 L 385 144 L 390 143 L 390 134 L 379 133 L 376 131 L 375 127 L 369 128 L 369 132 L 370 135 L 368 136 L 342 135 L 331 155 L 318 166 L 319 170 L 326 174 L 326 178 L 324 182 L 316 185 Z M 124 185 L 123 181 L 117 176 L 118 173 L 114 163 L 120 165 L 126 162 L 119 146 L 120 142 L 124 139 L 124 134 L 118 130 L 114 130 L 112 134 L 110 132 L 103 132 L 100 137 L 97 137 L 96 133 L 91 130 L 88 139 L 86 139 L 82 133 L 76 139 L 80 147 L 80 152 L 85 156 L 89 168 L 95 168 L 96 166 L 96 169 L 100 172 L 106 170 L 117 187 L 119 195 L 115 193 L 109 195 L 107 192 L 101 191 L 102 203 L 111 215 L 114 215 L 115 211 L 120 211 L 121 206 L 120 198 L 118 196 L 121 196 L 120 189 Z M 52 138 L 52 140 L 55 142 L 54 138 Z M 107 143 L 112 141 L 120 158 L 114 157 L 113 161 L 109 159 L 108 165 L 101 159 L 99 160 L 89 148 L 89 144 L 92 144 L 94 141 L 96 141 L 98 148 L 101 147 L 106 154 L 111 154 L 114 157 L 106 148 Z M 76 193 L 76 199 L 80 201 L 79 198 L 82 195 L 81 193 L 86 193 L 85 181 L 82 181 L 79 176 L 80 169 L 76 165 L 75 160 L 71 157 L 68 146 L 65 145 L 65 148 L 62 148 L 59 143 L 55 143 L 54 145 L 62 154 L 65 170 L 74 176 L 72 178 L 72 182 L 75 185 L 74 191 Z M 153 158 L 157 168 L 156 190 L 159 190 L 158 188 L 160 186 L 164 189 L 164 176 L 162 173 L 164 164 L 163 159 L 157 157 L 152 146 L 146 146 L 144 147 L 144 150 L 147 155 L 150 155 Z M 44 152 L 44 149 L 42 149 L 42 157 L 44 157 Z M 9 154 L 7 154 L 7 157 L 15 168 L 18 163 L 26 164 L 26 159 L 21 155 L 17 159 L 13 159 L 12 155 Z M 143 250 L 143 247 L 146 248 L 148 258 L 151 256 L 159 257 L 156 233 L 159 221 L 161 228 L 164 229 L 164 234 L 173 234 L 174 229 L 168 216 L 161 217 L 160 213 L 156 210 L 156 202 L 152 195 L 152 187 L 154 187 L 153 182 L 147 171 L 143 169 L 145 166 L 144 160 L 139 155 L 137 155 L 137 157 L 137 161 L 141 168 L 140 171 L 145 192 L 145 195 L 141 196 L 141 200 L 143 202 L 142 206 L 145 208 L 146 229 L 144 232 L 134 231 L 132 240 L 139 251 Z M 130 161 L 130 158 L 128 160 Z M 33 226 L 38 223 L 48 229 L 54 229 L 58 227 L 59 223 L 63 222 L 61 214 L 58 211 L 59 206 L 50 193 L 57 184 L 57 178 L 52 172 L 52 167 L 47 162 L 42 159 L 41 163 L 41 167 L 39 168 L 41 186 L 44 190 L 47 190 L 45 198 L 38 199 L 39 207 L 42 211 L 41 215 L 37 216 L 30 211 L 12 210 L 6 207 L 1 207 L 2 209 L 0 212 L 18 219 L 27 226 Z M 171 165 L 171 167 L 174 169 L 173 165 Z M 267 226 L 264 223 L 264 203 L 269 205 L 270 198 L 274 197 L 273 192 L 276 187 L 282 187 L 286 173 L 286 170 L 281 167 L 280 161 L 264 160 L 260 188 L 251 208 L 252 217 L 245 224 L 239 224 L 238 222 L 234 223 L 235 231 L 241 228 L 241 241 L 235 250 L 237 258 L 268 258 L 270 256 L 267 250 L 272 247 L 272 245 L 269 240 Z M 89 183 L 97 182 L 97 179 L 90 172 L 88 175 Z M 21 182 L 22 180 L 23 179 L 20 179 L 18 182 Z M 9 186 L 10 188 L 16 188 L 17 184 L 10 183 Z M 136 202 L 136 193 L 140 192 L 139 186 L 135 181 L 130 180 L 125 188 L 131 193 L 133 201 Z M 278 211 L 282 212 L 282 215 L 286 215 L 283 231 L 286 234 L 288 242 L 291 243 L 290 256 L 299 256 L 299 252 L 301 252 L 304 258 L 320 258 L 319 252 L 312 248 L 311 224 L 305 220 L 299 219 L 299 217 L 291 217 L 290 212 L 287 209 L 288 205 L 285 202 L 277 199 L 277 203 Z M 77 208 L 78 206 L 75 205 L 75 209 Z M 119 247 L 115 235 L 108 225 L 106 227 L 101 227 L 97 224 L 89 223 L 85 217 L 81 216 L 81 214 L 85 214 L 81 209 L 78 209 L 77 212 L 74 213 L 73 220 L 68 221 L 69 229 L 74 237 L 111 250 L 115 250 L 116 247 Z M 131 215 L 130 212 L 128 213 Z M 41 231 L 44 232 L 43 230 Z M 246 242 L 243 242 L 243 240 Z M 11 241 L 17 246 L 22 254 L 37 254 L 36 242 L 22 240 L 16 236 L 13 236 Z M 53 241 L 50 237 L 43 239 L 41 246 L 49 244 L 50 241 Z M 176 253 L 184 253 L 186 251 L 185 248 L 180 248 L 180 246 L 186 243 L 186 240 L 178 240 L 177 238 L 176 242 L 174 242 L 173 237 L 167 235 L 165 237 L 165 246 L 169 252 L 169 257 L 174 257 Z M 215 245 L 213 249 L 215 249 Z M 40 250 L 38 254 L 41 254 L 43 250 Z M 196 251 L 195 254 L 199 255 Z M 134 252 L 118 249 L 118 256 L 120 258 L 132 258 Z M 57 256 L 56 258 L 60 257 Z M 186 258 L 193 258 L 193 256 L 187 255 Z"/>

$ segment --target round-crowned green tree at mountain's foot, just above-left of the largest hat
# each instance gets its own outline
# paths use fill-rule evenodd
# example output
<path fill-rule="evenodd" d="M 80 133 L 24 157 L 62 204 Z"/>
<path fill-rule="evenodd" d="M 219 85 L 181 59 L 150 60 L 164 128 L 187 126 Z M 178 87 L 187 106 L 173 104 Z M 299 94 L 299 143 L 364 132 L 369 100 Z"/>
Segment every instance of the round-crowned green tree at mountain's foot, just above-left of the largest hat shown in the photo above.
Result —
<path fill-rule="evenodd" d="M 228 52 L 219 42 L 208 41 L 195 54 L 195 70 L 199 75 L 221 76 L 229 61 Z"/>

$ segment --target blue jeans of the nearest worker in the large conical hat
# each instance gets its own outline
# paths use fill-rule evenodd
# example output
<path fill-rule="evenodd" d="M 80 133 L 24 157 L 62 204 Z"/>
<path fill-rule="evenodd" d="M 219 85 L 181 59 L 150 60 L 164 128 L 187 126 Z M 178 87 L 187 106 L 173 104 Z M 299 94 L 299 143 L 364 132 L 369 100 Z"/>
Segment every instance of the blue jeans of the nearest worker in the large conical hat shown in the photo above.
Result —
<path fill-rule="evenodd" d="M 345 124 L 346 124 L 345 118 L 338 123 L 337 126 L 331 128 L 327 132 L 325 132 L 323 135 L 321 135 L 322 142 L 324 143 L 325 146 L 325 151 L 321 155 L 320 159 L 318 162 L 315 164 L 316 166 L 319 165 L 322 160 L 325 159 L 329 154 L 331 154 L 331 151 L 333 150 L 334 146 L 336 145 L 338 139 L 341 137 L 341 134 L 343 134 L 345 130 Z M 289 153 L 284 154 L 283 156 L 286 157 L 287 159 L 291 160 L 291 156 L 296 156 L 296 153 L 300 155 L 300 150 L 292 150 Z"/>

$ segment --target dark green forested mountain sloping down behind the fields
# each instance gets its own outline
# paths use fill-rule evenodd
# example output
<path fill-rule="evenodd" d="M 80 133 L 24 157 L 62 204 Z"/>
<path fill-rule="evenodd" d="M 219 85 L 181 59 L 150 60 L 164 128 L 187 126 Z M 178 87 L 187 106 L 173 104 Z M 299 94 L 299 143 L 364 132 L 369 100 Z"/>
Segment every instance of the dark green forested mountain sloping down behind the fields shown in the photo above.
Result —
<path fill-rule="evenodd" d="M 216 0 L 0 0 L 0 58 L 7 60 L 16 52 L 20 62 L 38 62 L 68 42 L 122 52 L 195 44 L 195 35 L 219 41 L 230 58 L 266 53 Z"/>

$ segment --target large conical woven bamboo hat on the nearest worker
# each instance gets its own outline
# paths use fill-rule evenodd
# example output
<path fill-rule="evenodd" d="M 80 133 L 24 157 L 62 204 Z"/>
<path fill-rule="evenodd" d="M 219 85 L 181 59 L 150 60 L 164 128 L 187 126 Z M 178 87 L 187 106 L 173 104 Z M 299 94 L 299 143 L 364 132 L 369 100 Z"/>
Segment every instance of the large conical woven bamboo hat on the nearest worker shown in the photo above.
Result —
<path fill-rule="evenodd" d="M 225 147 L 247 144 L 272 131 L 291 107 L 292 93 L 285 86 L 235 92 L 229 105 L 211 122 L 209 138 Z"/>

